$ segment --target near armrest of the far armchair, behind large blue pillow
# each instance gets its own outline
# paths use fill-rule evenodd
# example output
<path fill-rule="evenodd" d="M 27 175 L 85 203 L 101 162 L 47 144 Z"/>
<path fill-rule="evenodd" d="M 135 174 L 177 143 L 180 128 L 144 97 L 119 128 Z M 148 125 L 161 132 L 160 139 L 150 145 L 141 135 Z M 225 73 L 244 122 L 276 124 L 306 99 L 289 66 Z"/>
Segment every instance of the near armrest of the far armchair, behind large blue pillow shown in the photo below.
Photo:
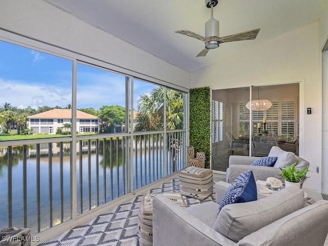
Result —
<path fill-rule="evenodd" d="M 267 180 L 268 177 L 278 178 L 283 180 L 279 176 L 281 170 L 274 167 L 260 167 L 260 166 L 244 166 L 244 165 L 232 165 L 227 169 L 227 182 L 232 183 L 235 179 L 247 170 L 252 170 L 254 179 L 256 180 Z"/>

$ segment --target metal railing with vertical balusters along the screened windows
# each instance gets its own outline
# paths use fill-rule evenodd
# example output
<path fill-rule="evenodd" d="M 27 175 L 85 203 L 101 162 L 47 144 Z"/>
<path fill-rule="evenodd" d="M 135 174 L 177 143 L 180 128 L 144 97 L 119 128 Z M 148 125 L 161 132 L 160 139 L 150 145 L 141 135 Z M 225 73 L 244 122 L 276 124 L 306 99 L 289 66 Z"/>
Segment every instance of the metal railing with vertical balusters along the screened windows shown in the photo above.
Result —
<path fill-rule="evenodd" d="M 0 228 L 39 233 L 179 171 L 185 142 L 184 130 L 2 142 Z"/>

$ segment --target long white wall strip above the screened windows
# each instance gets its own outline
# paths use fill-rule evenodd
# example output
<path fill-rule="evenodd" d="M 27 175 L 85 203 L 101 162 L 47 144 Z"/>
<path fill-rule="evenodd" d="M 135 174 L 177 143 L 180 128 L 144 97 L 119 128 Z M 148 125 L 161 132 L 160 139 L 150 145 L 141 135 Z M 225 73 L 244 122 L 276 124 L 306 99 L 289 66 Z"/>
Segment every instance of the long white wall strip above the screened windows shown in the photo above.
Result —
<path fill-rule="evenodd" d="M 190 74 L 186 71 L 86 24 L 44 1 L 2 0 L 0 28 L 97 58 L 172 85 L 190 88 Z"/>

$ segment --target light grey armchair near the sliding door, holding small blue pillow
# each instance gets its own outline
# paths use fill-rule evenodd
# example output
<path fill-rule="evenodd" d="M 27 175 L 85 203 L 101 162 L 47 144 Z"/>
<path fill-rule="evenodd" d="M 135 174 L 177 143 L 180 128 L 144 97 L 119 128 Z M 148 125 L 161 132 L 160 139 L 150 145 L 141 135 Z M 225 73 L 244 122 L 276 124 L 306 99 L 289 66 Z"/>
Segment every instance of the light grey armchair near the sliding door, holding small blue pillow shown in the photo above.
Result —
<path fill-rule="evenodd" d="M 226 171 L 226 181 L 232 183 L 241 173 L 247 170 L 253 171 L 255 180 L 267 180 L 268 177 L 275 177 L 284 181 L 279 176 L 281 173 L 280 168 L 291 165 L 295 161 L 297 170 L 310 165 L 309 161 L 292 152 L 281 150 L 277 146 L 271 148 L 269 156 L 278 157 L 273 167 L 251 166 L 255 160 L 262 157 L 231 155 L 229 157 L 229 168 Z"/>

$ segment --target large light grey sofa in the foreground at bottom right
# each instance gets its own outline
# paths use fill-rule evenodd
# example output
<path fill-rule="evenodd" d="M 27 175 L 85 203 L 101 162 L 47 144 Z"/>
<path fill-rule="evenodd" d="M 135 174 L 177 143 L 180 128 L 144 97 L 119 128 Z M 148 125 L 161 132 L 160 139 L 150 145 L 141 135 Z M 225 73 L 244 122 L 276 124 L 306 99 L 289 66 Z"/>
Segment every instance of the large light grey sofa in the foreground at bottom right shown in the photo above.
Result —
<path fill-rule="evenodd" d="M 313 245 L 328 233 L 328 201 L 304 206 L 303 191 L 294 187 L 257 201 L 224 206 L 230 186 L 215 184 L 216 202 L 182 209 L 164 196 L 153 199 L 153 245 Z"/>

